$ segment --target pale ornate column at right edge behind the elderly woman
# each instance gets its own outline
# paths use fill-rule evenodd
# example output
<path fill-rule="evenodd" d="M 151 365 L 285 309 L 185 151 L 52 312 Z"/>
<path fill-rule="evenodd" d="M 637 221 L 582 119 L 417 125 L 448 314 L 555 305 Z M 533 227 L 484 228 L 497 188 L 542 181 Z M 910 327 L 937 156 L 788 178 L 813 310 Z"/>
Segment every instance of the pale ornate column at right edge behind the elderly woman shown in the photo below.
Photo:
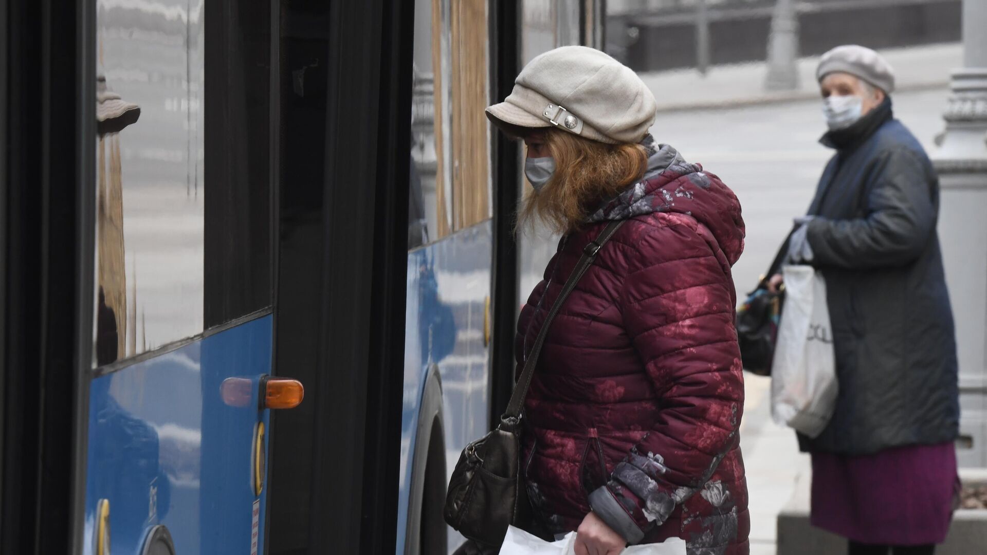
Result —
<path fill-rule="evenodd" d="M 952 71 L 934 157 L 939 232 L 959 353 L 962 467 L 987 467 L 987 2 L 963 0 L 963 67 Z"/>

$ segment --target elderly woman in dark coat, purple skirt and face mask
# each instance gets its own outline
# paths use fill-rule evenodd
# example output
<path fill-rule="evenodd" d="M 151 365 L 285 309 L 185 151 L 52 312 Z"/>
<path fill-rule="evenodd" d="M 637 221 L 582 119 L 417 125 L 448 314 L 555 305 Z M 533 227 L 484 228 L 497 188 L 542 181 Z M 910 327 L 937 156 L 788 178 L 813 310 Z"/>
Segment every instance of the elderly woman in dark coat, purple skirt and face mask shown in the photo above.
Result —
<path fill-rule="evenodd" d="M 812 455 L 811 521 L 847 537 L 851 555 L 931 554 L 949 529 L 959 418 L 939 182 L 893 118 L 879 54 L 839 46 L 816 76 L 821 142 L 836 153 L 785 247 L 823 271 L 840 388 L 822 435 L 799 437 Z"/>

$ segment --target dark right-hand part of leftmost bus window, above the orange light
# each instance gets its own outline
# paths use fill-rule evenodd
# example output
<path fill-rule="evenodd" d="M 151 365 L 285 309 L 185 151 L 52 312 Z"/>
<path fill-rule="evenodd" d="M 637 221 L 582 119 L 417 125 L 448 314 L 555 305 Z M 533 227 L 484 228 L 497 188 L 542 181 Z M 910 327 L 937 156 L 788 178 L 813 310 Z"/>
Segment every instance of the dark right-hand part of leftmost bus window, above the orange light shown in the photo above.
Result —
<path fill-rule="evenodd" d="M 205 329 L 271 305 L 276 135 L 268 6 L 266 0 L 220 0 L 207 8 L 229 28 L 206 21 Z"/>

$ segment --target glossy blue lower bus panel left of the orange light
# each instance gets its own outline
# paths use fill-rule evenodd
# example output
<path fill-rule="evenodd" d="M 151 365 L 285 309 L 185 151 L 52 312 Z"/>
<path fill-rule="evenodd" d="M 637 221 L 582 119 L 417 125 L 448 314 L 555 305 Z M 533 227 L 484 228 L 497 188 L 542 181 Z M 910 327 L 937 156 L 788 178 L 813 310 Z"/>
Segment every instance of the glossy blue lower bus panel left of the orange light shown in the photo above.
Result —
<path fill-rule="evenodd" d="M 92 381 L 84 553 L 96 550 L 101 500 L 107 553 L 140 553 L 164 524 L 181 555 L 263 553 L 271 316 L 191 341 Z M 224 385 L 225 382 L 225 385 Z M 257 446 L 260 445 L 260 460 Z M 255 468 L 260 462 L 258 468 Z"/>

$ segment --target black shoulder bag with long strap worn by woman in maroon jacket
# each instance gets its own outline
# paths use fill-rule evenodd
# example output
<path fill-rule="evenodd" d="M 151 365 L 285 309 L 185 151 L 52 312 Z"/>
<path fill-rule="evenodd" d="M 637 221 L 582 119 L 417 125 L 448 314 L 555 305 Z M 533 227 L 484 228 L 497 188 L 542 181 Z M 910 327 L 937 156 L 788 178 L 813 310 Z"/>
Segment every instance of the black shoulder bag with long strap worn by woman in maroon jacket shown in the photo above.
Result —
<path fill-rule="evenodd" d="M 510 524 L 525 524 L 530 513 L 527 490 L 518 472 L 521 454 L 521 410 L 538 365 L 549 327 L 575 284 L 593 264 L 596 254 L 610 240 L 623 220 L 608 224 L 595 241 L 582 250 L 579 262 L 559 293 L 542 325 L 531 354 L 524 361 L 514 392 L 500 423 L 463 449 L 445 498 L 443 515 L 464 536 L 487 545 L 500 545 Z"/>

